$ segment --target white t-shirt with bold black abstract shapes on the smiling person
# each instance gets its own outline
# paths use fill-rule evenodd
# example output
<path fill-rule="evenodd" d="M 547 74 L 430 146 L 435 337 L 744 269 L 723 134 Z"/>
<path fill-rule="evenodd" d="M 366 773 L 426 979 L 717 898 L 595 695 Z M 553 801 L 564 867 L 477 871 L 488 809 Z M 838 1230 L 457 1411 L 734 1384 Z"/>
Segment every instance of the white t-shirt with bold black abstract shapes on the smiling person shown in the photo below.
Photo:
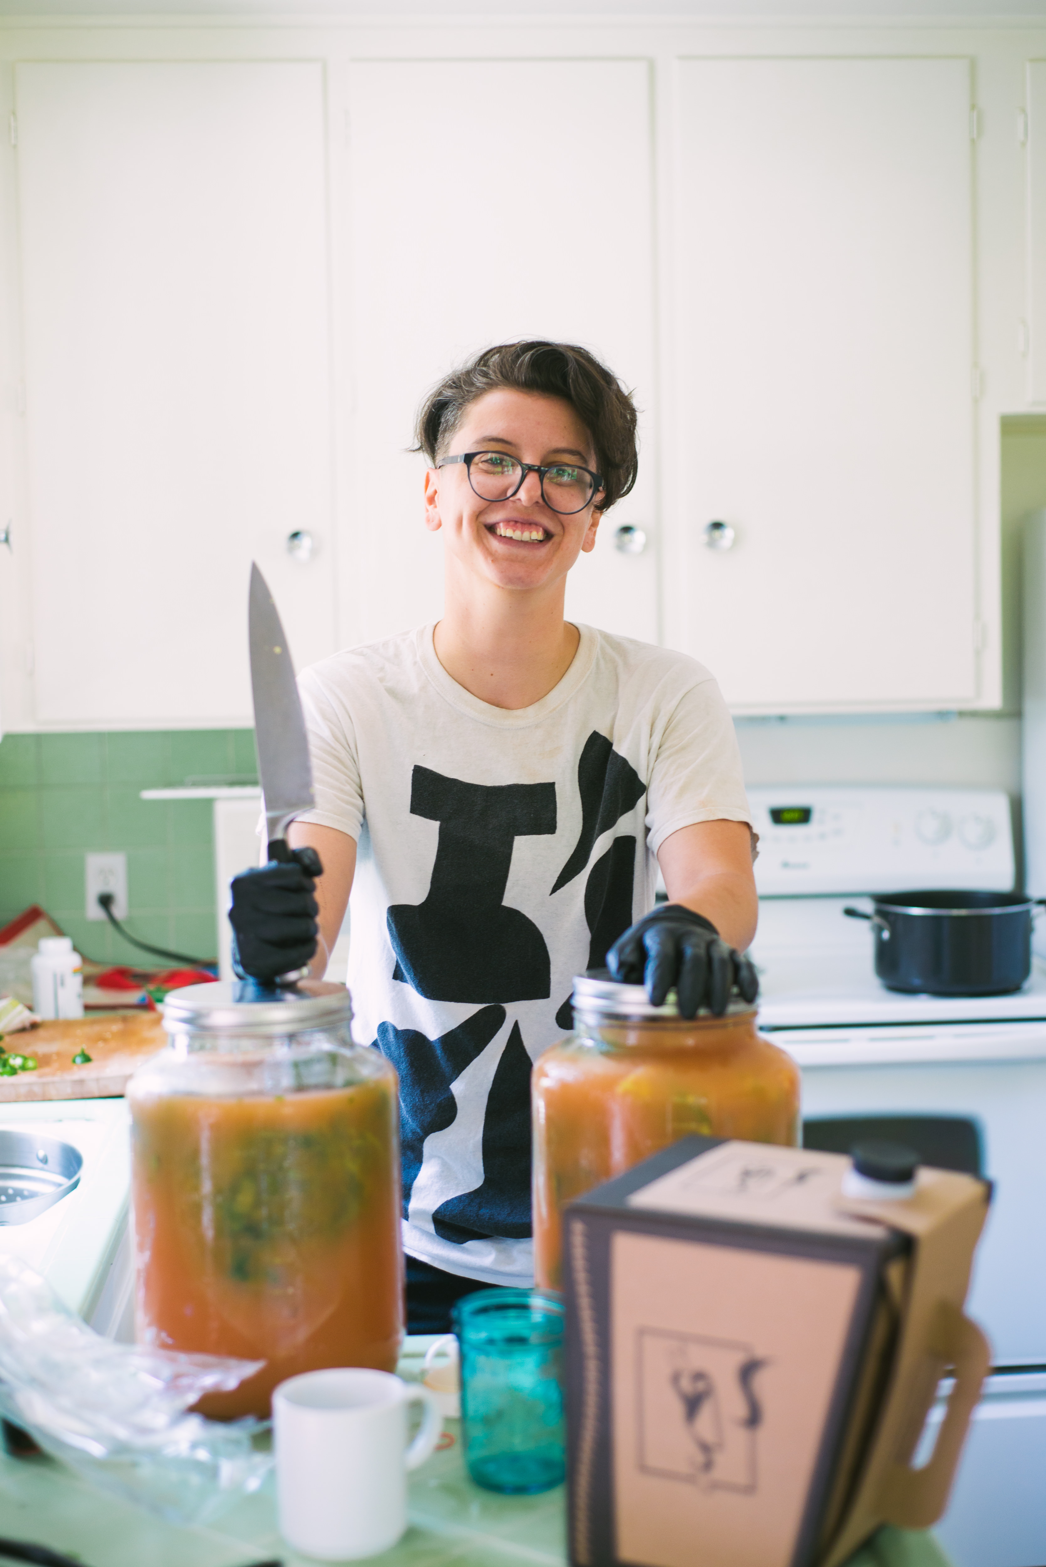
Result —
<path fill-rule="evenodd" d="M 529 1283 L 537 1056 L 573 976 L 655 903 L 661 843 L 748 821 L 719 686 L 683 653 L 579 627 L 532 707 L 481 702 L 432 627 L 301 675 L 316 809 L 359 841 L 354 1033 L 399 1072 L 404 1246 Z"/>

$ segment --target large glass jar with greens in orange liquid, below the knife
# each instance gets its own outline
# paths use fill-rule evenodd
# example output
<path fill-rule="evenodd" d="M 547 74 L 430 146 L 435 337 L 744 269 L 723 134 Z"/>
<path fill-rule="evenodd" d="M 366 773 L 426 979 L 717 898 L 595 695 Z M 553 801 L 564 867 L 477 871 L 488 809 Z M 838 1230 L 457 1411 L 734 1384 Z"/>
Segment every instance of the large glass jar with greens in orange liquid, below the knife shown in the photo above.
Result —
<path fill-rule="evenodd" d="M 321 981 L 172 990 L 168 1048 L 127 1087 L 139 1343 L 265 1360 L 208 1415 L 268 1415 L 299 1371 L 396 1368 L 396 1072 L 351 1017 Z"/>

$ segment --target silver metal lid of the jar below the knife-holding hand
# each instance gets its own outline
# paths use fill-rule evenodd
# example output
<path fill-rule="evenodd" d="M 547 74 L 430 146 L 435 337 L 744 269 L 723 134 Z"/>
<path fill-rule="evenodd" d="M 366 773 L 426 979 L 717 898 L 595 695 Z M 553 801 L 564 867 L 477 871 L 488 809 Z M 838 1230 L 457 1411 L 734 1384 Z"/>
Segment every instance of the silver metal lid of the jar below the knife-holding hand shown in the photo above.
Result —
<path fill-rule="evenodd" d="M 285 989 L 254 979 L 219 979 L 169 990 L 163 1026 L 169 1034 L 299 1034 L 330 1028 L 352 1017 L 352 998 L 343 984 L 301 979 Z"/>

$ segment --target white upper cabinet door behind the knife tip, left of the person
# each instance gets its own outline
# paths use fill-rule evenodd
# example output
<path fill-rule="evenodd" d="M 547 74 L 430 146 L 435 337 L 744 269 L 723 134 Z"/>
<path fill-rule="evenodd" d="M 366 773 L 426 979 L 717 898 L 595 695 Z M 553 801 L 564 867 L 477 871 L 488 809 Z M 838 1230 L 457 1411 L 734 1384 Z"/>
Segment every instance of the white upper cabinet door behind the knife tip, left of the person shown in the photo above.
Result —
<path fill-rule="evenodd" d="M 25 64 L 17 121 L 38 718 L 249 721 L 252 556 L 334 647 L 323 71 Z"/>

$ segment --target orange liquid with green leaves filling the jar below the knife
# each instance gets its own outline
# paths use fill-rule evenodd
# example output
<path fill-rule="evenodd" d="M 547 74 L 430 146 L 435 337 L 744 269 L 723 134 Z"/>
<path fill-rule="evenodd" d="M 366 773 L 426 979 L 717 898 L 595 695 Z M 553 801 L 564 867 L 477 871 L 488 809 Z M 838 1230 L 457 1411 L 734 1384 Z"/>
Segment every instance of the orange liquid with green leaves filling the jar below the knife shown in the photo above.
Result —
<path fill-rule="evenodd" d="M 139 1341 L 266 1362 L 202 1413 L 268 1417 L 272 1388 L 299 1371 L 395 1371 L 395 1081 L 132 1095 L 132 1116 Z"/>

